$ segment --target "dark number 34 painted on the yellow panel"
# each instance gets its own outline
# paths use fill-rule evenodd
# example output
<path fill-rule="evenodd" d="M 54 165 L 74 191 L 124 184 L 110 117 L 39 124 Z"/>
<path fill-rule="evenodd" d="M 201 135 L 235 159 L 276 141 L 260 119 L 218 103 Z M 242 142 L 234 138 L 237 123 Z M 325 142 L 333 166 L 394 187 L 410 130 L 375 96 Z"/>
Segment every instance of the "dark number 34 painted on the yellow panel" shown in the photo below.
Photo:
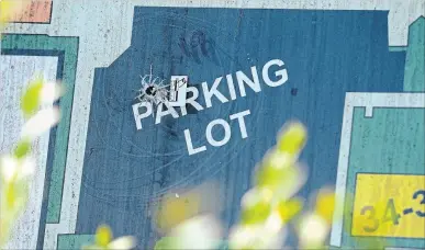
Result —
<path fill-rule="evenodd" d="M 400 214 L 395 212 L 395 205 L 394 200 L 390 198 L 387 202 L 385 212 L 383 214 L 383 218 L 381 218 L 381 221 L 379 221 L 378 218 L 376 218 L 376 211 L 373 206 L 365 206 L 361 212 L 361 215 L 367 215 L 368 219 L 370 220 L 370 224 L 368 226 L 364 227 L 364 230 L 367 232 L 373 232 L 378 230 L 379 225 L 391 221 L 393 225 L 399 225 Z"/>

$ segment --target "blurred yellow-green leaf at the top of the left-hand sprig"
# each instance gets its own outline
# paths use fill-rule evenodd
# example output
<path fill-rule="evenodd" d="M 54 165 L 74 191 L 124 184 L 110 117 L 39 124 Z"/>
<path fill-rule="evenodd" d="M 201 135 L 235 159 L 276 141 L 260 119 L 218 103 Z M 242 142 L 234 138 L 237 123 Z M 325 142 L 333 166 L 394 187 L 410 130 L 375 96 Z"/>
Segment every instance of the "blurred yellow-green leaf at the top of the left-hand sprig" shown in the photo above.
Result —
<path fill-rule="evenodd" d="M 25 93 L 21 98 L 21 110 L 25 116 L 33 115 L 40 105 L 40 95 L 43 89 L 43 78 L 38 77 L 26 89 Z"/>

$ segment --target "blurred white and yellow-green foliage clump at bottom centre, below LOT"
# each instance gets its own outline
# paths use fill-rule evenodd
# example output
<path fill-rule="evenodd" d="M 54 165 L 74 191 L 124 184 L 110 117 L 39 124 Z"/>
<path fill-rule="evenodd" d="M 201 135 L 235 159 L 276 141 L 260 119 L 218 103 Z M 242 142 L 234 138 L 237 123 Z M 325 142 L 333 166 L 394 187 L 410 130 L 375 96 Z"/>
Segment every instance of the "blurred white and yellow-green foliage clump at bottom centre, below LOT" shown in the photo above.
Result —
<path fill-rule="evenodd" d="M 299 162 L 299 155 L 306 141 L 306 129 L 300 123 L 286 125 L 262 162 L 257 166 L 254 183 L 242 198 L 241 219 L 224 237 L 221 221 L 214 213 L 193 216 L 177 208 L 176 202 L 164 200 L 157 211 L 157 221 L 166 229 L 156 249 L 219 249 L 226 239 L 230 249 L 281 249 L 286 246 L 289 223 L 293 223 L 300 249 L 324 248 L 334 215 L 335 195 L 324 188 L 313 197 L 311 208 L 303 211 L 304 202 L 294 196 L 307 177 Z M 210 196 L 211 197 L 211 196 Z M 186 198 L 188 197 L 180 197 Z M 190 198 L 189 198 L 190 200 Z M 198 204 L 198 203 L 195 203 Z M 186 213 L 187 218 L 174 221 Z M 175 216 L 170 216 L 175 212 Z M 164 218 L 169 218 L 164 228 Z"/>

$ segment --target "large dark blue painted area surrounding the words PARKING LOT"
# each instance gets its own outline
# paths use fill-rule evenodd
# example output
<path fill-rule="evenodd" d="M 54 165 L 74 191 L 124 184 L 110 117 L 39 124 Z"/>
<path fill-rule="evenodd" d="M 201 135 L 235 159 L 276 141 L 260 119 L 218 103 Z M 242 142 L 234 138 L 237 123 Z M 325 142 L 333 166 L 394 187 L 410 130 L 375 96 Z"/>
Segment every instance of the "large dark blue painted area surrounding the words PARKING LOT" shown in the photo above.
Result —
<path fill-rule="evenodd" d="M 197 45 L 202 37 L 203 50 Z M 275 58 L 286 64 L 286 84 L 261 81 L 259 93 L 248 89 L 245 98 L 214 100 L 211 109 L 159 125 L 147 118 L 136 130 L 131 105 L 150 65 L 165 79 L 188 75 L 190 84 L 211 86 L 220 76 L 249 73 L 251 66 L 260 72 Z M 389 52 L 387 11 L 136 8 L 132 45 L 96 70 L 76 234 L 108 223 L 116 235 L 135 235 L 138 247 L 149 249 L 158 235 L 147 205 L 171 188 L 211 179 L 225 190 L 223 219 L 232 225 L 255 163 L 291 118 L 310 132 L 301 156 L 310 181 L 301 194 L 334 185 L 345 93 L 402 92 L 404 59 L 405 52 Z M 225 81 L 220 89 L 228 96 Z M 188 156 L 183 129 L 201 146 L 211 121 L 245 110 L 251 113 L 248 138 L 241 139 L 233 122 L 227 145 Z"/>

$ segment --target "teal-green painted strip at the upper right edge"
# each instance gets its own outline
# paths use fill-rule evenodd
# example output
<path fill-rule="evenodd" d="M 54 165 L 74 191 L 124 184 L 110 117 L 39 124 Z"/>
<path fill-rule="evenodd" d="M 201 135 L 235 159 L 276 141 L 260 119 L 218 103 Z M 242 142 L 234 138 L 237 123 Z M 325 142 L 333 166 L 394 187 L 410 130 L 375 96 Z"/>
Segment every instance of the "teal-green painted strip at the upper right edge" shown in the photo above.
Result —
<path fill-rule="evenodd" d="M 425 92 L 425 18 L 421 16 L 409 29 L 404 91 Z"/>

